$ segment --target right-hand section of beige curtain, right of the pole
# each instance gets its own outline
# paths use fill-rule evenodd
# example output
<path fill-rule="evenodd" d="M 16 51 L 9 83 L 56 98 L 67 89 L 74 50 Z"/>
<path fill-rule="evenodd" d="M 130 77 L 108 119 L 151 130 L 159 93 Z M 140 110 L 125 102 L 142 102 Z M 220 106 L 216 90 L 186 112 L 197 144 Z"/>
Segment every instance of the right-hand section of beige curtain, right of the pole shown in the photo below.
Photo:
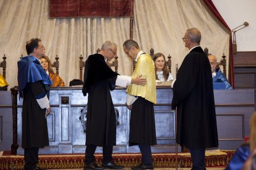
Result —
<path fill-rule="evenodd" d="M 182 41 L 188 28 L 195 27 L 201 31 L 202 48 L 207 47 L 218 61 L 223 53 L 227 58 L 229 56 L 229 34 L 215 22 L 199 0 L 137 0 L 134 15 L 134 40 L 145 52 L 149 53 L 153 47 L 155 53 L 162 52 L 166 59 L 170 54 L 174 78 L 176 64 L 179 67 L 189 52 Z"/>

